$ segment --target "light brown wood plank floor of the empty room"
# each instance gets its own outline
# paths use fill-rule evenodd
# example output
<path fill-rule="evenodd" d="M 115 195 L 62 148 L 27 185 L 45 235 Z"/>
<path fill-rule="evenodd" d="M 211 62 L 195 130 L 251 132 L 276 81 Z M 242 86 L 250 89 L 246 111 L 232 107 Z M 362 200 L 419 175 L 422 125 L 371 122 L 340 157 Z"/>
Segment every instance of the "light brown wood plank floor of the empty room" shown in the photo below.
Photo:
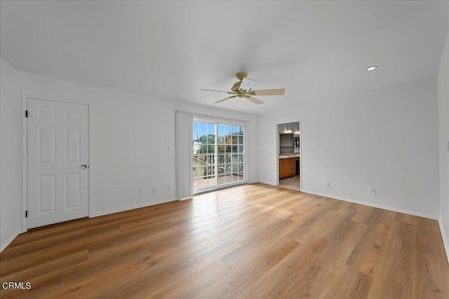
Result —
<path fill-rule="evenodd" d="M 19 235 L 1 298 L 449 298 L 437 221 L 264 184 Z"/>

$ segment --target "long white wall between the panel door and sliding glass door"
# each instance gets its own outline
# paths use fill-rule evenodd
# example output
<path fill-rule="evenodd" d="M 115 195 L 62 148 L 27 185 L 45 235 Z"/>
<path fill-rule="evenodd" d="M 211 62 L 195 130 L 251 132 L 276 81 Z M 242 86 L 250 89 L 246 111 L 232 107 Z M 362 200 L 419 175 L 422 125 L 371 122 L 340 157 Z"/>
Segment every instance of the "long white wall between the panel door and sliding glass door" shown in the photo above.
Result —
<path fill-rule="evenodd" d="M 257 181 L 255 116 L 25 72 L 19 81 L 25 95 L 90 105 L 93 216 L 175 198 L 175 111 L 249 120 L 248 181 Z"/>

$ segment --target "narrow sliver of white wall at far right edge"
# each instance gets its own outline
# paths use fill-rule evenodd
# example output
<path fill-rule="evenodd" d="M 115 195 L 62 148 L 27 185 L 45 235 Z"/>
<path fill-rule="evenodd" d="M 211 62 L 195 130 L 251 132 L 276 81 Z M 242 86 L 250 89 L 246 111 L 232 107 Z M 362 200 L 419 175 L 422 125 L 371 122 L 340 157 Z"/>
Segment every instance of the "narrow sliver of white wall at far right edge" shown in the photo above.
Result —
<path fill-rule="evenodd" d="M 440 228 L 449 260 L 449 34 L 438 69 Z"/>

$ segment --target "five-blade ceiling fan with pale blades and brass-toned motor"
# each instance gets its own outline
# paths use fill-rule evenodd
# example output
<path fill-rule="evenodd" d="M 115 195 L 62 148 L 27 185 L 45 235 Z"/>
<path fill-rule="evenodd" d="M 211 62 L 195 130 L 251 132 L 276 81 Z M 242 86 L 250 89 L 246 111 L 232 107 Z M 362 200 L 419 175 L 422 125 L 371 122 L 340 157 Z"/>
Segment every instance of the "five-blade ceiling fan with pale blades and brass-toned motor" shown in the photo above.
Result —
<path fill-rule="evenodd" d="M 262 104 L 263 102 L 259 99 L 256 99 L 255 95 L 283 95 L 286 90 L 284 88 L 274 89 L 274 90 L 253 90 L 253 85 L 255 81 L 250 78 L 246 78 L 248 74 L 244 71 L 240 71 L 236 74 L 236 77 L 239 79 L 239 82 L 234 83 L 231 90 L 232 91 L 224 91 L 224 90 L 206 90 L 213 92 L 226 92 L 228 95 L 232 95 L 225 99 L 220 99 L 215 103 L 225 102 L 228 99 L 233 99 L 234 97 L 239 97 L 240 99 L 248 99 L 248 101 L 253 102 L 254 104 Z"/>

